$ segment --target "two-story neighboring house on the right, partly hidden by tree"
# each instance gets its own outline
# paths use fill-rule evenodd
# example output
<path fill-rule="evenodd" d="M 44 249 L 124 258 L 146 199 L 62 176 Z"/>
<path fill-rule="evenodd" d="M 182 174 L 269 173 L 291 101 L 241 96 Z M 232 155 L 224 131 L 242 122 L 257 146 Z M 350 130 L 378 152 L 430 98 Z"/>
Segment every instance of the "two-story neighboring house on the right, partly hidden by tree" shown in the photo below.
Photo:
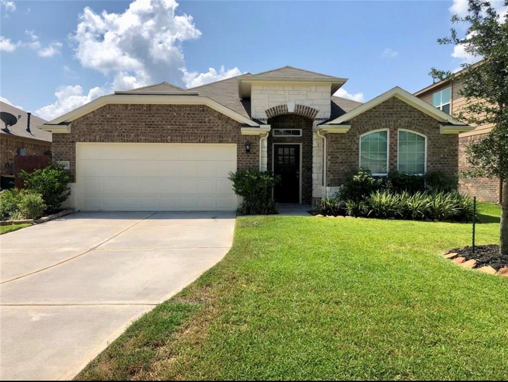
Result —
<path fill-rule="evenodd" d="M 463 84 L 460 80 L 460 72 L 456 73 L 453 80 L 435 82 L 415 93 L 416 97 L 452 115 L 456 115 L 466 105 L 465 98 L 460 95 Z M 476 126 L 475 129 L 459 134 L 459 172 L 470 170 L 467 162 L 465 149 L 471 142 L 484 139 L 488 132 L 493 129 L 492 124 Z M 459 178 L 461 192 L 478 196 L 481 199 L 500 203 L 501 182 L 495 178 Z"/>

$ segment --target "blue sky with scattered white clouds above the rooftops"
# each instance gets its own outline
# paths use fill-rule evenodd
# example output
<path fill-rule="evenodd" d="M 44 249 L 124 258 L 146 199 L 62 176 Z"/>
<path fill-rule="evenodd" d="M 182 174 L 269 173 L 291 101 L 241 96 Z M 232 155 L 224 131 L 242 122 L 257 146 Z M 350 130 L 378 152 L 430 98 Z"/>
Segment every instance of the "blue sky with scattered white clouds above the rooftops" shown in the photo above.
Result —
<path fill-rule="evenodd" d="M 113 89 L 284 65 L 349 78 L 341 95 L 367 101 L 470 60 L 436 43 L 462 0 L 0 2 L 0 95 L 46 119 Z"/>

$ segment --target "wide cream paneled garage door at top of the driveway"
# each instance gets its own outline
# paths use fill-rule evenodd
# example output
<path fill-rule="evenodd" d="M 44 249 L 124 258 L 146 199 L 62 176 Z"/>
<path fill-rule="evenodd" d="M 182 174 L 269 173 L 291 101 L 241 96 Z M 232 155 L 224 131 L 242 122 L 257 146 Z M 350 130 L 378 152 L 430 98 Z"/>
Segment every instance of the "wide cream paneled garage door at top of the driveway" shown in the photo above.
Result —
<path fill-rule="evenodd" d="M 78 143 L 77 209 L 232 211 L 235 144 Z"/>

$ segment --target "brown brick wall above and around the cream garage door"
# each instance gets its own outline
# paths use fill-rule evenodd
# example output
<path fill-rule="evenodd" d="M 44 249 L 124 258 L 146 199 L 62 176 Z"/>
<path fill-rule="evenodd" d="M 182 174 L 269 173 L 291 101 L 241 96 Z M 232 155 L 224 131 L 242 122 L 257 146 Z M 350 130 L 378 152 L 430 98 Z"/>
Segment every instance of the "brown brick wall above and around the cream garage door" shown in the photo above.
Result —
<path fill-rule="evenodd" d="M 70 161 L 74 176 L 76 142 L 236 143 L 237 168 L 259 168 L 259 137 L 241 135 L 239 122 L 204 105 L 110 104 L 77 118 L 71 133 L 53 135 L 53 159 Z"/>

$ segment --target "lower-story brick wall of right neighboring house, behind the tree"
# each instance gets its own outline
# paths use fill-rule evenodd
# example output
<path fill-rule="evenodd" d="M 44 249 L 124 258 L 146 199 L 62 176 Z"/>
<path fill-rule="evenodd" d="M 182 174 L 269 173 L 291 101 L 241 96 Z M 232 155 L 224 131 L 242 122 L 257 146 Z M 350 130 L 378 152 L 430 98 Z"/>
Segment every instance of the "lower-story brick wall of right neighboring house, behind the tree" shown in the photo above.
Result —
<path fill-rule="evenodd" d="M 483 140 L 487 134 L 478 134 L 459 138 L 459 172 L 471 170 L 467 162 L 466 147 L 472 142 Z M 499 179 L 497 178 L 459 178 L 459 190 L 461 193 L 477 196 L 479 199 L 498 203 L 500 193 Z"/>

